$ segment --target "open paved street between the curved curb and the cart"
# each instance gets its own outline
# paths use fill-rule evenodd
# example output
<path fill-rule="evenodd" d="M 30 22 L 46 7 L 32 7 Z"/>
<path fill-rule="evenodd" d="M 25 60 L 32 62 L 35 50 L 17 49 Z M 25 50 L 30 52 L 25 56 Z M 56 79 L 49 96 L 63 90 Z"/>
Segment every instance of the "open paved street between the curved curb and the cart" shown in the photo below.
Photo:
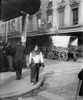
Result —
<path fill-rule="evenodd" d="M 77 75 L 82 61 L 61 62 L 45 59 L 45 65 L 44 69 L 40 69 L 41 75 L 45 78 L 43 86 L 23 95 L 21 100 L 75 100 L 78 85 Z M 18 97 L 12 98 L 12 100 L 17 99 Z M 11 100 L 11 98 L 3 100 Z M 82 98 L 78 96 L 78 100 L 82 100 Z"/>

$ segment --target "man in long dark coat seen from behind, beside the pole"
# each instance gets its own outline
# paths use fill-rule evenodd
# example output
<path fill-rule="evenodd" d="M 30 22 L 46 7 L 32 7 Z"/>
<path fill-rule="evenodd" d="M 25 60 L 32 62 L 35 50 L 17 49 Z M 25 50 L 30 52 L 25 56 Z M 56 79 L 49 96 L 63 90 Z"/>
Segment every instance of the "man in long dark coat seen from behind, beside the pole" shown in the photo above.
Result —
<path fill-rule="evenodd" d="M 16 45 L 16 53 L 13 59 L 14 69 L 16 71 L 16 80 L 20 80 L 22 76 L 22 68 L 24 65 L 24 54 L 25 54 L 25 47 L 21 44 L 21 42 L 17 43 Z"/>

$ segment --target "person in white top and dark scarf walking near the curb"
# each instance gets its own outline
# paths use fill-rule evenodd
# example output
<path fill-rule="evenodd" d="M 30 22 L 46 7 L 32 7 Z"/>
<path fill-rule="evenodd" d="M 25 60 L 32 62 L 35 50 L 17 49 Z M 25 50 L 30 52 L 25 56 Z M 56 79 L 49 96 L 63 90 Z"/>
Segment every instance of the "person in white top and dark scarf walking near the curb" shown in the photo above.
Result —
<path fill-rule="evenodd" d="M 34 49 L 30 52 L 29 64 L 31 68 L 31 83 L 34 85 L 39 80 L 39 68 L 44 67 L 44 60 L 42 52 L 39 50 L 36 44 Z"/>

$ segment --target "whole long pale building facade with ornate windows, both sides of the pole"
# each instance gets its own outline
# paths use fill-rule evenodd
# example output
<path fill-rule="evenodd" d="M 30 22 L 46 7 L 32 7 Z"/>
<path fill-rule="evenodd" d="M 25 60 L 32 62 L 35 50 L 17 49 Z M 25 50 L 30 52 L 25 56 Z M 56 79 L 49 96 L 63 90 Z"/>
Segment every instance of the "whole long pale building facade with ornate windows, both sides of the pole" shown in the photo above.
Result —
<path fill-rule="evenodd" d="M 42 38 L 44 35 L 71 35 L 77 36 L 79 44 L 82 44 L 82 9 L 83 0 L 41 0 L 39 11 L 26 17 L 28 24 L 26 22 L 23 24 L 23 16 L 12 19 L 13 21 L 0 24 L 0 34 L 6 36 L 6 39 L 7 37 L 21 37 L 23 27 L 26 26 L 27 38 L 39 36 L 40 39 L 40 36 Z M 19 31 L 17 27 L 19 27 Z"/>

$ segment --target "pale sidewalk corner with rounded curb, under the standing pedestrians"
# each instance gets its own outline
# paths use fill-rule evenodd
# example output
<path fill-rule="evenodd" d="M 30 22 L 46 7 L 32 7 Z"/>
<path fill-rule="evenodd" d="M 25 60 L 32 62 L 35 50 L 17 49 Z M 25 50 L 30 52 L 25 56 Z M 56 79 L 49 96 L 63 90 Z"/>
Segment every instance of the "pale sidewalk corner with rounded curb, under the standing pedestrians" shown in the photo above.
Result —
<path fill-rule="evenodd" d="M 6 77 L 0 81 L 0 99 L 7 97 L 20 96 L 22 94 L 31 92 L 37 89 L 43 82 L 43 77 L 40 76 L 40 80 L 37 84 L 31 85 L 30 83 L 30 71 L 23 70 L 23 76 L 21 80 L 15 80 L 15 72 L 3 73 Z M 9 83 L 10 82 L 10 83 Z"/>

